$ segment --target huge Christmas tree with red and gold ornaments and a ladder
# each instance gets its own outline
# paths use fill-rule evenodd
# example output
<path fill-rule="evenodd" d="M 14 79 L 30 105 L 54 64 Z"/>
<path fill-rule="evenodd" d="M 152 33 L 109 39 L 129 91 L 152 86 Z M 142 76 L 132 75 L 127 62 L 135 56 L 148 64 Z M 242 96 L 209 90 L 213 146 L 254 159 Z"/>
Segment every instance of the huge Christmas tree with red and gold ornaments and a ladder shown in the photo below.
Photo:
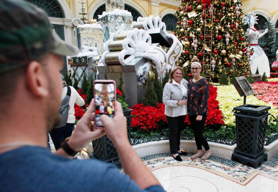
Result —
<path fill-rule="evenodd" d="M 222 71 L 231 79 L 250 74 L 249 59 L 252 54 L 244 34 L 238 0 L 181 0 L 174 35 L 183 44 L 179 65 L 188 75 L 190 60 L 198 57 L 203 77 L 219 82 Z"/>

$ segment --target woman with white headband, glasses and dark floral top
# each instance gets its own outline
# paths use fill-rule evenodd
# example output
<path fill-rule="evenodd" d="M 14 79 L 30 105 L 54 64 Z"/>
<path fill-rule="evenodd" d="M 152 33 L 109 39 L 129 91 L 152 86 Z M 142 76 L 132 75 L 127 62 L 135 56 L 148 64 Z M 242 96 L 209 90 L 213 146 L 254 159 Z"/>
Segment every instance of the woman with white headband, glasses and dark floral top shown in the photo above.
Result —
<path fill-rule="evenodd" d="M 191 72 L 194 78 L 188 82 L 187 111 L 198 149 L 198 152 L 192 155 L 191 159 L 201 157 L 201 159 L 205 160 L 211 156 L 208 142 L 203 136 L 203 129 L 208 115 L 209 84 L 208 81 L 200 75 L 202 67 L 199 59 L 193 58 L 191 62 Z M 206 150 L 204 154 L 202 153 L 202 145 Z"/>

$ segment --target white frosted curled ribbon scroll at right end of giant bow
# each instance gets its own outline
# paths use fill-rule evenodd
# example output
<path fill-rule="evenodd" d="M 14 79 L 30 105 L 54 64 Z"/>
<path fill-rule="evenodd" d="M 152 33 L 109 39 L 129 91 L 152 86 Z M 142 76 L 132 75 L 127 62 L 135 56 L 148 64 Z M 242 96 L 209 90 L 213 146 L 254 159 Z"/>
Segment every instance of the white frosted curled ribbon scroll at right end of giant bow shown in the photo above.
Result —
<path fill-rule="evenodd" d="M 181 52 L 183 50 L 183 45 L 178 40 L 178 38 L 173 34 L 167 34 L 168 38 L 173 40 L 173 44 L 166 53 L 168 61 L 166 62 L 167 66 L 170 65 L 172 68 L 176 66 L 176 61 L 181 56 Z"/>

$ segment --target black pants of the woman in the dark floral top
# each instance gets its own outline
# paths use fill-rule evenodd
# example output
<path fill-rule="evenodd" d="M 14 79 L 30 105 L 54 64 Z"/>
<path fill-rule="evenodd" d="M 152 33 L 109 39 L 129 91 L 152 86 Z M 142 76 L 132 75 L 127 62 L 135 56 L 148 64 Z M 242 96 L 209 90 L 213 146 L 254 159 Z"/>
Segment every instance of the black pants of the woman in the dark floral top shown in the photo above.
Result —
<path fill-rule="evenodd" d="M 204 146 L 205 150 L 209 150 L 208 142 L 203 136 L 203 130 L 206 123 L 206 115 L 203 115 L 201 121 L 196 121 L 197 115 L 189 116 L 189 121 L 191 128 L 194 132 L 195 142 L 197 145 L 198 150 L 202 150 L 202 145 Z"/>

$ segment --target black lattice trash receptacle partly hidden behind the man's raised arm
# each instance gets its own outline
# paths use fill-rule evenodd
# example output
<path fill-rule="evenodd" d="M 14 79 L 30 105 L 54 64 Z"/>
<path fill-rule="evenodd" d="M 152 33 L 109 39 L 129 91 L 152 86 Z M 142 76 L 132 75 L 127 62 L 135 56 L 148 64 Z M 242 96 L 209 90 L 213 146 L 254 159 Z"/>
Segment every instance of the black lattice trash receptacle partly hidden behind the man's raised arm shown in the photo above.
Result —
<path fill-rule="evenodd" d="M 130 131 L 131 131 L 131 109 L 125 110 L 124 115 L 127 119 L 127 132 L 128 139 L 130 140 Z M 115 127 L 116 129 L 116 127 Z M 113 163 L 117 166 L 120 166 L 119 155 L 112 141 L 106 136 L 103 135 L 101 138 L 95 139 L 92 141 L 93 145 L 93 157 L 96 157 L 105 162 Z"/>

